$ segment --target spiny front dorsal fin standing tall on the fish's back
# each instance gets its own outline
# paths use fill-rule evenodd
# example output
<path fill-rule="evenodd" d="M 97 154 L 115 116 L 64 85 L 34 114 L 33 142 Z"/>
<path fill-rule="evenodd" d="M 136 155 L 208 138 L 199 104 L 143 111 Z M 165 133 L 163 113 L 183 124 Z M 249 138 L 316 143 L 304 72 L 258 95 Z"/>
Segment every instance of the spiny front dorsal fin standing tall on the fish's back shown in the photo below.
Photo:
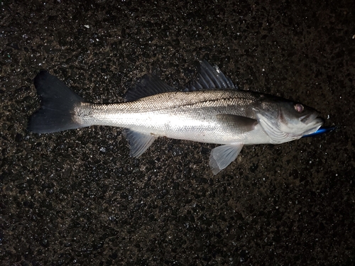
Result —
<path fill-rule="evenodd" d="M 187 90 L 200 91 L 203 89 L 238 89 L 238 87 L 223 74 L 217 65 L 212 67 L 209 62 L 202 60 L 197 77 L 192 79 Z"/>

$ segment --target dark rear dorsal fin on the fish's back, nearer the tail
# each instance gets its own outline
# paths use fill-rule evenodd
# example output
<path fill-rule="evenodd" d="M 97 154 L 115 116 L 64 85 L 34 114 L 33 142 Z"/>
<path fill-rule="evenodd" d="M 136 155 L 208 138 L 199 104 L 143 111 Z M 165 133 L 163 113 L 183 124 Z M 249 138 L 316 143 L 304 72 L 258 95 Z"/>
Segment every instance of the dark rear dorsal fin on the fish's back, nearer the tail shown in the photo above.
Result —
<path fill-rule="evenodd" d="M 125 99 L 126 101 L 136 101 L 163 92 L 175 92 L 175 89 L 165 84 L 155 74 L 145 74 L 139 79 L 136 86 L 126 92 Z"/>

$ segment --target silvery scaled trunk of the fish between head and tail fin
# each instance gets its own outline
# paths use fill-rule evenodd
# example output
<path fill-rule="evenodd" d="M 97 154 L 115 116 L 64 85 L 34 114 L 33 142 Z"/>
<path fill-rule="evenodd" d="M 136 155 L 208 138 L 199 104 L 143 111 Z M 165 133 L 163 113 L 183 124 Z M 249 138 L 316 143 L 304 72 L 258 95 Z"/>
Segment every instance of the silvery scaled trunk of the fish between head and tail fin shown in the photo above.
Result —
<path fill-rule="evenodd" d="M 82 104 L 75 120 L 85 126 L 119 126 L 153 137 L 203 143 L 272 143 L 253 112 L 260 97 L 231 89 L 166 92 L 123 104 Z"/>

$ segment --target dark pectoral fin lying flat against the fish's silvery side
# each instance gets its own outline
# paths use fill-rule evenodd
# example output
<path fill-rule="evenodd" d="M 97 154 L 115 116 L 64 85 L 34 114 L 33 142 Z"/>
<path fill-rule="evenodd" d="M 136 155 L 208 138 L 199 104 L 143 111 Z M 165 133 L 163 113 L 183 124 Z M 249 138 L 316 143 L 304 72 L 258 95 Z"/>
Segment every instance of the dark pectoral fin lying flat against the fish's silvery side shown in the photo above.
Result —
<path fill-rule="evenodd" d="M 256 119 L 228 113 L 217 114 L 217 120 L 224 126 L 231 128 L 236 134 L 252 131 L 258 124 Z"/>

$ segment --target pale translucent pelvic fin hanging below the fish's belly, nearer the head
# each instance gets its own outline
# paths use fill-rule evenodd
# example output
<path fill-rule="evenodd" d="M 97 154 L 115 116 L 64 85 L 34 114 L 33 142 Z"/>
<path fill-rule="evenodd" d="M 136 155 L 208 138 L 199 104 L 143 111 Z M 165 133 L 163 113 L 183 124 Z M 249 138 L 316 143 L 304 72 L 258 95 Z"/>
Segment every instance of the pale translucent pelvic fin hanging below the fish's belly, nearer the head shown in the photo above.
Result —
<path fill-rule="evenodd" d="M 214 174 L 226 168 L 241 152 L 243 143 L 222 145 L 214 148 L 209 155 L 209 166 Z"/>

